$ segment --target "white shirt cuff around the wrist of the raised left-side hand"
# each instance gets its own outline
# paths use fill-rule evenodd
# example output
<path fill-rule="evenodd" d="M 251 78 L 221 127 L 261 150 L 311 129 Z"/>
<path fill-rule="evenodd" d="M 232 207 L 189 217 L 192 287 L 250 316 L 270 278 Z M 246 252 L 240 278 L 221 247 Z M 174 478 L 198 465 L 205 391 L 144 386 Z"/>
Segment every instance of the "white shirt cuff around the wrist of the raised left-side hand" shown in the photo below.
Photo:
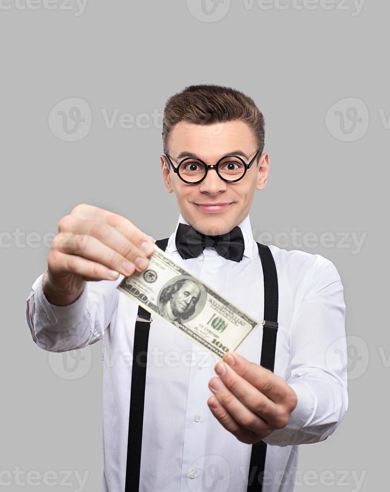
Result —
<path fill-rule="evenodd" d="M 66 306 L 56 306 L 51 304 L 43 292 L 42 281 L 44 274 L 40 275 L 34 282 L 32 290 L 34 291 L 34 300 L 36 312 L 41 320 L 42 326 L 54 331 L 63 331 L 75 326 L 81 321 L 87 307 L 87 285 L 81 295 Z"/>

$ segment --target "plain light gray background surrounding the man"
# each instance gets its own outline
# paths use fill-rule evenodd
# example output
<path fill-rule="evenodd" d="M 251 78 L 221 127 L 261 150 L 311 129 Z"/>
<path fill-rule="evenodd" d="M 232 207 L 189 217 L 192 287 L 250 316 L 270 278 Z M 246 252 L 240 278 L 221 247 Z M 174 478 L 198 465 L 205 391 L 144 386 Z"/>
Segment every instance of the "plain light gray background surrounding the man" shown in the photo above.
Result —
<path fill-rule="evenodd" d="M 296 489 L 382 489 L 390 366 L 382 259 L 388 3 L 366 2 L 357 15 L 352 2 L 337 0 L 333 10 L 320 0 L 301 10 L 287 0 L 280 4 L 286 10 L 225 0 L 207 15 L 201 0 L 95 0 L 77 15 L 71 2 L 72 10 L 60 1 L 53 10 L 39 3 L 22 10 L 20 2 L 0 9 L 0 471 L 35 470 L 39 485 L 18 485 L 14 473 L 4 488 L 62 490 L 70 470 L 65 489 L 74 490 L 76 470 L 89 471 L 83 490 L 101 489 L 101 342 L 73 353 L 84 358 L 68 353 L 65 360 L 35 346 L 25 319 L 31 285 L 46 269 L 45 234 L 55 233 L 60 217 L 81 202 L 118 212 L 155 238 L 169 235 L 177 221 L 175 197 L 161 179 L 160 125 L 123 128 L 117 120 L 110 129 L 103 112 L 161 114 L 165 100 L 186 85 L 217 83 L 253 97 L 266 120 L 271 167 L 250 212 L 255 239 L 329 258 L 345 289 L 349 408 L 328 440 L 300 447 Z M 49 113 L 73 97 L 89 105 L 92 125 L 84 138 L 68 142 L 55 135 Z M 354 114 L 359 121 L 351 120 Z M 294 228 L 314 235 L 297 245 Z M 334 235 L 333 245 L 324 232 Z M 360 247 L 353 234 L 364 237 Z M 73 362 L 77 367 L 67 372 Z M 47 471 L 53 486 L 39 479 Z"/>

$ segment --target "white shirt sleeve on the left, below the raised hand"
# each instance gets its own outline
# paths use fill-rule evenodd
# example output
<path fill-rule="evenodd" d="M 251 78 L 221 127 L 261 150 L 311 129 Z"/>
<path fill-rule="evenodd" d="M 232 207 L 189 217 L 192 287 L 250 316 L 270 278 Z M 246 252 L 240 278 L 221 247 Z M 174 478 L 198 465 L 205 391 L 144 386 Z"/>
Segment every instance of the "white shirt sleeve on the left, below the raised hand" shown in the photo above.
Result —
<path fill-rule="evenodd" d="M 43 292 L 43 275 L 34 282 L 27 299 L 26 317 L 34 342 L 44 350 L 64 352 L 102 339 L 118 306 L 117 286 L 124 276 L 115 281 L 86 282 L 74 302 L 56 306 Z"/>

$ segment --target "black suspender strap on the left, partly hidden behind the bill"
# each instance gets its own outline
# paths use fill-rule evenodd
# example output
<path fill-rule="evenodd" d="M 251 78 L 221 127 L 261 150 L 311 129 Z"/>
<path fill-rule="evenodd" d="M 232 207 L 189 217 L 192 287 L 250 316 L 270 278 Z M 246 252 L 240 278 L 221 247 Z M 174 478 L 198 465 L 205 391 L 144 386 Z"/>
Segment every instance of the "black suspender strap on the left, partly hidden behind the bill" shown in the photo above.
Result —
<path fill-rule="evenodd" d="M 156 241 L 158 248 L 165 251 L 168 239 Z M 138 306 L 138 316 L 134 332 L 125 492 L 139 492 L 150 322 L 151 317 L 149 311 Z"/>

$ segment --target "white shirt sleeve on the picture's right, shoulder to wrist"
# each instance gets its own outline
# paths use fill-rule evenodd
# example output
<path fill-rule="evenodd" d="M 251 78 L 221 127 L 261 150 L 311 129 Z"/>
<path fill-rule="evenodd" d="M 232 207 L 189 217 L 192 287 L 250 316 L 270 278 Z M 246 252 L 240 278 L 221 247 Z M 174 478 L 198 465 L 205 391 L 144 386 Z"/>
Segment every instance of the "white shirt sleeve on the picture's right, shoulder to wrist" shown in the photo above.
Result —
<path fill-rule="evenodd" d="M 315 256 L 311 287 L 291 323 L 286 381 L 298 403 L 288 424 L 263 439 L 270 445 L 323 441 L 336 430 L 348 408 L 343 285 L 333 263 Z"/>

